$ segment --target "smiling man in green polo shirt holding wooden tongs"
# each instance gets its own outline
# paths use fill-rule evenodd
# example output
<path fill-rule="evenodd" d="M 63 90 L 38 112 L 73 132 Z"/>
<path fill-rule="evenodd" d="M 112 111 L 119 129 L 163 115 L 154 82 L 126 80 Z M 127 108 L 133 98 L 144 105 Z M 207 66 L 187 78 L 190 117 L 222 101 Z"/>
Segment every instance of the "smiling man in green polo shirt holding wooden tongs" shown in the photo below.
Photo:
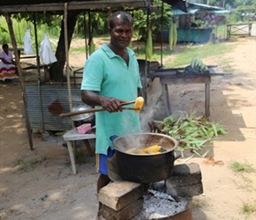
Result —
<path fill-rule="evenodd" d="M 96 116 L 96 154 L 100 176 L 97 192 L 109 183 L 107 158 L 114 154 L 111 136 L 140 132 L 139 114 L 124 110 L 121 103 L 141 96 L 139 64 L 130 48 L 132 16 L 117 11 L 109 18 L 109 44 L 90 55 L 81 84 L 81 97 L 89 106 L 102 106 L 106 111 Z M 99 205 L 99 210 L 101 205 Z M 100 216 L 98 219 L 101 219 Z"/>

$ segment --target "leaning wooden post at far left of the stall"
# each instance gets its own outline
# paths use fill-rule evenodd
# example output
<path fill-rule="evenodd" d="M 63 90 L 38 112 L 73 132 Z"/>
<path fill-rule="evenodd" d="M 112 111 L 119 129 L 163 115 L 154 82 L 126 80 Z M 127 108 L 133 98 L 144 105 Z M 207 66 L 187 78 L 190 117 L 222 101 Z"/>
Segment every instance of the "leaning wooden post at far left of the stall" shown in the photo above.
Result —
<path fill-rule="evenodd" d="M 11 37 L 11 44 L 12 44 L 12 48 L 13 48 L 14 55 L 15 55 L 15 61 L 17 62 L 17 70 L 19 73 L 19 82 L 21 85 L 22 98 L 23 98 L 23 103 L 24 103 L 24 112 L 25 112 L 25 119 L 26 119 L 26 131 L 27 131 L 27 136 L 28 136 L 28 142 L 29 142 L 30 150 L 34 150 L 33 140 L 32 140 L 32 128 L 30 126 L 30 122 L 29 122 L 29 118 L 28 118 L 28 111 L 27 111 L 26 89 L 25 89 L 24 78 L 22 75 L 22 70 L 21 70 L 20 62 L 19 62 L 19 53 L 18 53 L 17 43 L 16 43 L 16 39 L 15 39 L 13 27 L 12 27 L 11 17 L 8 13 L 4 13 L 4 17 L 5 17 L 7 25 L 8 25 L 8 29 L 9 29 L 9 33 L 10 33 L 10 37 Z"/>

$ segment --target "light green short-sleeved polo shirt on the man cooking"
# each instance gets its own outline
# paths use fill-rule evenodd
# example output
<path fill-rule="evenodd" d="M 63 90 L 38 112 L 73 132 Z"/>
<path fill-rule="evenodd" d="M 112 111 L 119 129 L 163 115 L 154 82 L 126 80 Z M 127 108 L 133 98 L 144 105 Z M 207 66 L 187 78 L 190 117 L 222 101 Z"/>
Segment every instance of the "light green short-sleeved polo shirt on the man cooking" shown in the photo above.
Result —
<path fill-rule="evenodd" d="M 83 72 L 81 90 L 94 91 L 102 96 L 132 101 L 141 88 L 139 64 L 130 48 L 129 65 L 106 44 L 90 55 Z M 134 104 L 130 105 L 134 106 Z M 110 136 L 140 132 L 139 114 L 132 110 L 122 113 L 96 112 L 96 153 L 107 154 L 112 146 Z"/>

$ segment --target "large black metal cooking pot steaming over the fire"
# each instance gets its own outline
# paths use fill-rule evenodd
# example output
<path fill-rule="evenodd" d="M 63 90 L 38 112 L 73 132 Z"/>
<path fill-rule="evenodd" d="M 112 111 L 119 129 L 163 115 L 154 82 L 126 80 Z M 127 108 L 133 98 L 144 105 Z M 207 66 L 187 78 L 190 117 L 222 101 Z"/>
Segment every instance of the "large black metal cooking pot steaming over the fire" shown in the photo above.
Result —
<path fill-rule="evenodd" d="M 153 155 L 129 154 L 126 151 L 134 147 L 143 149 L 157 144 L 163 152 Z M 170 177 L 174 166 L 174 150 L 177 140 L 170 136 L 155 133 L 139 133 L 119 136 L 113 141 L 116 150 L 117 171 L 128 181 L 153 183 Z"/>

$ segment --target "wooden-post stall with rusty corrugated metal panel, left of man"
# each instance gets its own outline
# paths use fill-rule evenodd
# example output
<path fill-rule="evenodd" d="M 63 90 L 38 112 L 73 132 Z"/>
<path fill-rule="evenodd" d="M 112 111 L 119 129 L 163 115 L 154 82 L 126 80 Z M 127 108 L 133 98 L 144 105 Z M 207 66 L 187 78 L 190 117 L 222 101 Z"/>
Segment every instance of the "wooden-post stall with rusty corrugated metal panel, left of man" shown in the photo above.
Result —
<path fill-rule="evenodd" d="M 69 70 L 69 46 L 67 28 L 68 11 L 87 12 L 96 9 L 102 9 L 106 12 L 112 9 L 123 9 L 131 7 L 132 9 L 147 8 L 151 4 L 150 0 L 110 0 L 110 1 L 20 1 L 12 0 L 0 4 L 0 14 L 4 15 L 8 24 L 11 36 L 11 44 L 15 57 L 19 57 L 18 47 L 13 32 L 11 15 L 14 13 L 32 13 L 35 17 L 37 12 L 50 11 L 51 13 L 61 13 L 64 17 L 64 48 L 65 48 L 65 71 L 66 82 L 64 83 L 41 83 L 41 62 L 39 55 L 39 46 L 36 37 L 37 29 L 34 18 L 34 34 L 36 45 L 36 60 L 38 80 L 37 84 L 25 84 L 19 58 L 17 58 L 17 68 L 19 72 L 19 81 L 23 91 L 24 108 L 23 115 L 26 119 L 27 133 L 29 136 L 30 148 L 33 149 L 32 129 L 44 130 L 64 130 L 73 126 L 70 118 L 62 119 L 59 114 L 72 111 L 72 106 L 81 104 L 79 87 L 71 82 L 71 77 L 67 74 Z M 67 99 L 68 98 L 68 99 Z"/>

